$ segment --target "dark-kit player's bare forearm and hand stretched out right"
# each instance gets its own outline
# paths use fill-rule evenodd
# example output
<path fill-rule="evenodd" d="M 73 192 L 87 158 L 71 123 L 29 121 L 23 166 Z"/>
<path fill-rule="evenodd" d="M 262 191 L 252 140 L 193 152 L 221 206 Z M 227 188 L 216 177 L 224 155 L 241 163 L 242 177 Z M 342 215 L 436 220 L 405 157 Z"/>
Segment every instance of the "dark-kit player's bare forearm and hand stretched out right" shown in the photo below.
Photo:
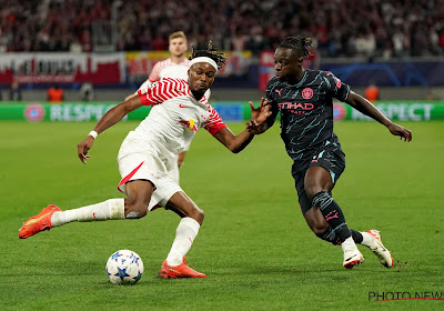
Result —
<path fill-rule="evenodd" d="M 410 130 L 401 127 L 400 124 L 393 123 L 389 118 L 382 114 L 382 112 L 377 110 L 377 108 L 374 107 L 373 103 L 371 103 L 362 96 L 350 91 L 349 98 L 345 102 L 357 111 L 364 113 L 365 116 L 369 116 L 381 124 L 384 124 L 392 134 L 398 136 L 400 139 L 404 139 L 404 141 L 412 140 L 412 132 Z"/>

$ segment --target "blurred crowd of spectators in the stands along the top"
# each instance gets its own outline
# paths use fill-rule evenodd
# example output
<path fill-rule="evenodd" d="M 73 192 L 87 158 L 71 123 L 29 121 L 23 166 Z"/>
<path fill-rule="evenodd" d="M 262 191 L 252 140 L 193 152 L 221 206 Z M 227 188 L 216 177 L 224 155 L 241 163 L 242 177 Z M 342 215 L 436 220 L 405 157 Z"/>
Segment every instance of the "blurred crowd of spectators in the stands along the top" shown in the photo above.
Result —
<path fill-rule="evenodd" d="M 444 54 L 444 0 L 0 0 L 0 52 L 93 50 L 94 23 L 115 24 L 117 51 L 165 50 L 183 30 L 191 44 L 274 49 L 312 37 L 323 57 Z M 112 32 L 112 28 L 108 32 Z M 111 33 L 107 33 L 110 38 Z M 100 39 L 100 38 L 99 38 Z M 95 40 L 101 42 L 101 40 Z"/>

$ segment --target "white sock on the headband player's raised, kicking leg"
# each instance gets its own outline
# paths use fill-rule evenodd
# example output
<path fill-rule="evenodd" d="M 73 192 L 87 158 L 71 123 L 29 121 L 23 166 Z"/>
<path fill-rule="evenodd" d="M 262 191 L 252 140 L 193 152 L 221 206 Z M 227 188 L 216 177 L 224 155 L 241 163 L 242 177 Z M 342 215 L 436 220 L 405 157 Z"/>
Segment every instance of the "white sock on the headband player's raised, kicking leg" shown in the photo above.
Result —
<path fill-rule="evenodd" d="M 110 199 L 97 204 L 56 212 L 51 217 L 52 227 L 62 225 L 72 221 L 100 221 L 124 219 L 124 199 Z"/>

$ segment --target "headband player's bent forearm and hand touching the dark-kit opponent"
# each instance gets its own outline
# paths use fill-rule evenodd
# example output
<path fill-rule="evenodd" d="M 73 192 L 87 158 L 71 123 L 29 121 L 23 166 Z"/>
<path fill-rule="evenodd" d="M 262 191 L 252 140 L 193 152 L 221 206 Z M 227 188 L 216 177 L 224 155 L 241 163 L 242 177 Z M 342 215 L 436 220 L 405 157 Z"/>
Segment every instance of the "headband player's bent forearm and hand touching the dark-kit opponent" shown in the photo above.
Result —
<path fill-rule="evenodd" d="M 252 103 L 250 103 L 252 104 Z M 253 113 L 254 104 L 252 107 Z M 270 107 L 261 107 L 254 111 L 256 120 L 265 120 L 270 116 Z M 249 128 L 250 126 L 250 128 Z M 261 126 L 261 124 L 260 124 Z M 234 136 L 229 128 L 223 128 L 214 134 L 214 137 L 225 146 L 231 152 L 238 153 L 242 151 L 254 138 L 256 133 L 260 133 L 260 126 L 255 126 L 253 121 L 250 121 L 245 126 L 245 130 L 239 136 Z"/>

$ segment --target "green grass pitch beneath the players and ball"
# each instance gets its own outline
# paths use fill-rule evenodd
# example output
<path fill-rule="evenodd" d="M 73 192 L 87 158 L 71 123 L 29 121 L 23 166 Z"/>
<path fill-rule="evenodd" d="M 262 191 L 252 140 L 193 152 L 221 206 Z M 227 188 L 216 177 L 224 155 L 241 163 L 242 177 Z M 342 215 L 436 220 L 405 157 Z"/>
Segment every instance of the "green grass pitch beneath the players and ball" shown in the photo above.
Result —
<path fill-rule="evenodd" d="M 158 271 L 179 223 L 170 211 L 18 239 L 21 223 L 48 203 L 72 209 L 121 197 L 115 157 L 137 123 L 102 133 L 83 165 L 75 144 L 93 123 L 1 122 L 0 309 L 442 310 L 444 301 L 369 301 L 369 292 L 444 292 L 444 122 L 403 124 L 413 132 L 411 143 L 375 122 L 335 124 L 347 168 L 334 198 L 351 228 L 382 231 L 397 268 L 383 268 L 360 247 L 365 262 L 347 271 L 341 248 L 311 233 L 274 126 L 239 154 L 198 133 L 181 184 L 205 211 L 188 258 L 208 279 L 163 280 Z M 134 287 L 108 282 L 104 267 L 119 249 L 144 262 Z"/>

